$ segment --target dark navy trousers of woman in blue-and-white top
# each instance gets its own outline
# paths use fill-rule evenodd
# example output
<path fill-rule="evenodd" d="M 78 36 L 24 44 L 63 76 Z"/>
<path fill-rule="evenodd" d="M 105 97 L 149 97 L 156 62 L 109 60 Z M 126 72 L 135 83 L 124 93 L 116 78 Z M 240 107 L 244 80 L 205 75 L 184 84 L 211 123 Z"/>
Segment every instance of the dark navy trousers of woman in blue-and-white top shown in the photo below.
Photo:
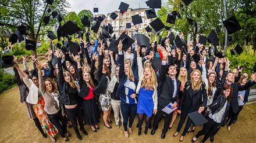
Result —
<path fill-rule="evenodd" d="M 133 121 L 137 112 L 137 104 L 127 104 L 126 102 L 120 102 L 120 108 L 123 115 L 123 128 L 127 131 L 127 123 L 129 119 L 129 127 L 133 126 Z"/>

